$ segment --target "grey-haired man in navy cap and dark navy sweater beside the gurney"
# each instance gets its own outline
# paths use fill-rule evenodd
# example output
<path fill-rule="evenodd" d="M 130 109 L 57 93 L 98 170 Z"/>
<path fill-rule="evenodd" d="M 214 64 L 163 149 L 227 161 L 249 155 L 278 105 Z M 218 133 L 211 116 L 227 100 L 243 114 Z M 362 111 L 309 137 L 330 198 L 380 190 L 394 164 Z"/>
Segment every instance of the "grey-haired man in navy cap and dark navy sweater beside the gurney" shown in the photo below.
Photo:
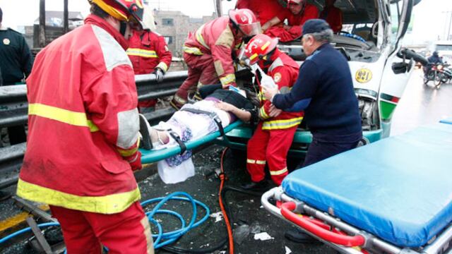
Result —
<path fill-rule="evenodd" d="M 297 82 L 284 95 L 276 89 L 264 91 L 274 109 L 304 110 L 304 121 L 313 138 L 302 167 L 353 149 L 362 138 L 350 67 L 331 47 L 332 37 L 333 30 L 325 20 L 304 23 L 302 44 L 308 57 L 299 69 Z M 287 231 L 285 236 L 292 241 L 310 241 L 309 236 L 297 231 Z"/>

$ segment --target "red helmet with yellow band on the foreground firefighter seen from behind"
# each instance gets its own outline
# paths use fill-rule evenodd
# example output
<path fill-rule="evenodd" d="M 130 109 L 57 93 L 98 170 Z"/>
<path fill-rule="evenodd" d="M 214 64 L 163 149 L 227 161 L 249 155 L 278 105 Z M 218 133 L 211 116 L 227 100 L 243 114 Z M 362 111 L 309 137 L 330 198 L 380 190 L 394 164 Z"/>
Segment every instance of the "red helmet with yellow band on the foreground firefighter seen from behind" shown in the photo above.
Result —
<path fill-rule="evenodd" d="M 97 4 L 102 10 L 113 18 L 121 21 L 132 21 L 143 28 L 143 1 L 142 0 L 88 0 L 90 4 Z M 137 29 L 137 28 L 135 28 Z"/>

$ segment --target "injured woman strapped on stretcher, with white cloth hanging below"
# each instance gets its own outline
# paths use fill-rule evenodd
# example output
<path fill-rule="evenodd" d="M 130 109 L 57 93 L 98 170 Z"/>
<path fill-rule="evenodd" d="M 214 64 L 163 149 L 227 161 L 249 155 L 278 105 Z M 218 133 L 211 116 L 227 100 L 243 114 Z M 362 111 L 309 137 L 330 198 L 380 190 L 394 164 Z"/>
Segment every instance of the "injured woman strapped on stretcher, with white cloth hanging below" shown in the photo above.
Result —
<path fill-rule="evenodd" d="M 225 90 L 221 85 L 205 85 L 199 93 L 203 98 L 201 101 L 185 104 L 168 121 L 157 126 L 149 126 L 141 116 L 142 147 L 150 152 L 175 146 L 183 148 L 188 141 L 216 131 L 223 133 L 223 128 L 234 121 L 255 122 L 258 119 L 259 102 L 256 93 L 250 90 L 236 87 Z M 165 183 L 178 183 L 194 176 L 191 150 L 162 159 L 157 167 Z"/>

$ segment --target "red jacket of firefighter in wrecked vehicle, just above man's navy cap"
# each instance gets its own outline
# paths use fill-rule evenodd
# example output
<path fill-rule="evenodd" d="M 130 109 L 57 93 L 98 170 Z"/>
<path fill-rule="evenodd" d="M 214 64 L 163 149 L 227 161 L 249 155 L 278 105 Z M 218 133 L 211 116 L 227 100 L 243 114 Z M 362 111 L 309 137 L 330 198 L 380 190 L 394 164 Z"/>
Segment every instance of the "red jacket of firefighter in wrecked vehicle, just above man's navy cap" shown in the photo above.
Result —
<path fill-rule="evenodd" d="M 290 26 L 289 29 L 285 29 L 283 25 L 275 25 L 264 32 L 270 37 L 278 37 L 281 42 L 290 42 L 302 36 L 302 30 L 304 23 L 311 18 L 319 18 L 319 10 L 313 4 L 304 2 L 302 11 L 298 15 L 292 14 L 289 10 L 281 12 L 278 15 L 280 20 L 285 20 Z"/>

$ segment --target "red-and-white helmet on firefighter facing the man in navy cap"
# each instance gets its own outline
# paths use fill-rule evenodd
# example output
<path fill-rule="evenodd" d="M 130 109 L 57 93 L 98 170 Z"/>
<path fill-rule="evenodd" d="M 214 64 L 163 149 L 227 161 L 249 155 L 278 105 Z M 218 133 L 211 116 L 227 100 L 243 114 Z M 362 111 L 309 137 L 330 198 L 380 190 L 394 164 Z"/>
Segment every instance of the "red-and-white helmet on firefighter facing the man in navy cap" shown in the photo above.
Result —
<path fill-rule="evenodd" d="M 256 63 L 259 59 L 262 59 L 268 53 L 272 52 L 278 39 L 270 38 L 268 35 L 256 35 L 246 44 L 244 56 L 249 59 L 249 64 Z"/>

